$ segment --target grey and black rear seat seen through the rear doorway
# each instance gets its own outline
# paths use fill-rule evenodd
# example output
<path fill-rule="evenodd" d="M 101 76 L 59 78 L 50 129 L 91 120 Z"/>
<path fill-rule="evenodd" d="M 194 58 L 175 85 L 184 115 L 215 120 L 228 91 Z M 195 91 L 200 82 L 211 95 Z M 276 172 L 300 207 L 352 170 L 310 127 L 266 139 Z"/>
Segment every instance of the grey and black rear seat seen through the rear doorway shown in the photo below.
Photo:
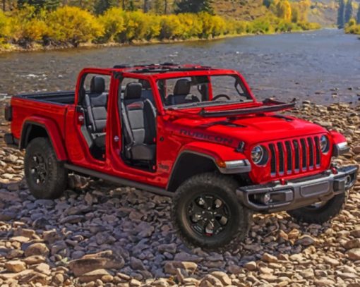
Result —
<path fill-rule="evenodd" d="M 90 92 L 85 94 L 87 126 L 97 147 L 105 146 L 105 127 L 107 124 L 107 99 L 105 80 L 94 76 L 90 82 Z"/>

